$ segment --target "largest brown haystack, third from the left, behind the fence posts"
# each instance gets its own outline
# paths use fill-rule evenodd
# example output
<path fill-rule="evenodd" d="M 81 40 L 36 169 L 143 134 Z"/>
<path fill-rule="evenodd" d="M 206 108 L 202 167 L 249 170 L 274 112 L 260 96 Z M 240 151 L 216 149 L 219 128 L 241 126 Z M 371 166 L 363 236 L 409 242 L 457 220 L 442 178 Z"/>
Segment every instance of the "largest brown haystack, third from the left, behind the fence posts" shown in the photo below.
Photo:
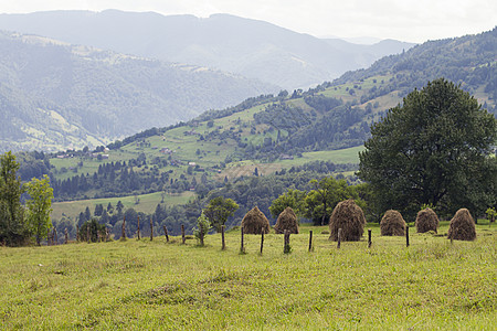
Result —
<path fill-rule="evenodd" d="M 364 232 L 366 217 L 361 207 L 353 200 L 337 204 L 329 218 L 329 239 L 338 241 L 338 229 L 341 228 L 342 242 L 358 242 Z"/>

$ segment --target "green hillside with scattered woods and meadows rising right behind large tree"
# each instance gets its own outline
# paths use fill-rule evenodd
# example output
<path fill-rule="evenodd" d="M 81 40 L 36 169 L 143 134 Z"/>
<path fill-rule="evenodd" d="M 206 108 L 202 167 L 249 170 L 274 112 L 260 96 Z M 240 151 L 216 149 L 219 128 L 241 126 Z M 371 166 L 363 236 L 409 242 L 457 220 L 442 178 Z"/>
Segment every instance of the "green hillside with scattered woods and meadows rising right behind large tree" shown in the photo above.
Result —
<path fill-rule="evenodd" d="M 385 57 L 368 71 L 348 73 L 307 92 L 248 98 L 234 107 L 207 111 L 188 122 L 141 131 L 106 149 L 70 150 L 53 154 L 50 160 L 42 156 L 38 162 L 42 159 L 50 162 L 43 169 L 52 167 L 51 182 L 59 201 L 188 191 L 204 197 L 210 191 L 220 192 L 212 190 L 223 188 L 225 182 L 240 180 L 242 184 L 222 192 L 267 210 L 272 197 L 297 186 L 298 171 L 353 174 L 357 153 L 369 137 L 370 125 L 401 103 L 415 84 L 423 85 L 423 79 L 427 82 L 436 73 L 448 75 L 459 65 L 457 82 L 495 111 L 493 77 L 497 52 L 491 42 L 495 38 L 493 30 L 429 42 L 402 55 Z M 465 54 L 466 66 L 456 61 L 461 57 L 458 52 Z M 425 61 L 429 68 L 417 70 L 416 63 L 423 56 L 431 58 L 430 63 Z M 411 81 L 411 76 L 419 78 Z M 33 169 L 28 172 L 38 175 Z M 273 173 L 279 177 L 269 179 Z M 285 173 L 290 175 L 282 175 Z M 256 174 L 265 180 L 257 180 Z M 247 178 L 248 186 L 243 184 Z M 305 190 L 308 180 L 308 175 L 298 179 L 299 188 Z M 353 181 L 353 177 L 349 178 L 349 182 Z M 254 197 L 251 200 L 248 195 Z M 199 202 L 193 204 L 190 211 L 183 206 L 178 215 L 194 220 Z M 243 216 L 242 210 L 240 214 Z"/>

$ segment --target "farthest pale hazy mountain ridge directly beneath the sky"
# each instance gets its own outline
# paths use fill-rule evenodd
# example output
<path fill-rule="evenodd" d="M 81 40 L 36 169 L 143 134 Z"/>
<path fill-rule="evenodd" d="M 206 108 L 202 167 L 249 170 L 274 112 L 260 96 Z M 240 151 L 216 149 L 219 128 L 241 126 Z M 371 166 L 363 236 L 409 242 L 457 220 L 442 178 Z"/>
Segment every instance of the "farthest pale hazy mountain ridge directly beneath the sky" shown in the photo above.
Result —
<path fill-rule="evenodd" d="M 105 10 L 1 14 L 0 29 L 72 44 L 219 68 L 293 90 L 368 67 L 412 43 L 356 45 L 320 40 L 274 24 L 229 14 L 208 19 Z"/>

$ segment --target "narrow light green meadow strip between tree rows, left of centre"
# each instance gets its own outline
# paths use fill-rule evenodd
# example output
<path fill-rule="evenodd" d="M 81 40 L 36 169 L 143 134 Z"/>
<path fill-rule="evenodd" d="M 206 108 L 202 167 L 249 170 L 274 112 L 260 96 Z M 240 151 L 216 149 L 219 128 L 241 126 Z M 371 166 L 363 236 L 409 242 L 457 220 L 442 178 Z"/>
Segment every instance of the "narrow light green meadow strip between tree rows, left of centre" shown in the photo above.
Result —
<path fill-rule="evenodd" d="M 190 191 L 182 192 L 181 194 L 166 194 L 163 202 L 167 206 L 186 204 L 192 196 L 194 196 L 194 192 Z M 52 217 L 55 220 L 60 220 L 64 214 L 74 218 L 75 216 L 80 215 L 81 212 L 84 212 L 86 206 L 88 206 L 89 211 L 93 213 L 96 204 L 103 204 L 104 207 L 107 207 L 108 203 L 110 202 L 113 206 L 116 207 L 116 204 L 119 200 L 126 209 L 133 207 L 137 212 L 151 214 L 156 210 L 157 204 L 162 201 L 161 192 L 141 194 L 137 195 L 137 197 L 140 200 L 139 204 L 135 203 L 135 195 L 54 202 L 52 204 Z"/>

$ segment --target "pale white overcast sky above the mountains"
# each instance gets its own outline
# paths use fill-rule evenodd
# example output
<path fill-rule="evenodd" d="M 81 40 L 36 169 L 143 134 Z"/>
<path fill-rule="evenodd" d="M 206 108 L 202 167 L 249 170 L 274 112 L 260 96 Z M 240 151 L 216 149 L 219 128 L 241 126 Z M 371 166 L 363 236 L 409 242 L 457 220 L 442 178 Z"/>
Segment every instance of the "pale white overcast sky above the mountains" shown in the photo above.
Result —
<path fill-rule="evenodd" d="M 491 30 L 496 0 L 0 0 L 2 13 L 82 9 L 212 13 L 263 20 L 315 36 L 424 42 Z"/>

